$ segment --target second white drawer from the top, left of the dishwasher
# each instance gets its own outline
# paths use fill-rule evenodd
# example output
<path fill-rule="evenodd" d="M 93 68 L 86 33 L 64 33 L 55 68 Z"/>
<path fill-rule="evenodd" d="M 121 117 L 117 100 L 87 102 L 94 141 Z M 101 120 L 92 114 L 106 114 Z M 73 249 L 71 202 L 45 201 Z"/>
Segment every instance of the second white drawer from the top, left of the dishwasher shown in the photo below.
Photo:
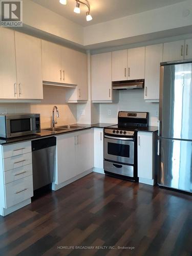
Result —
<path fill-rule="evenodd" d="M 32 163 L 32 153 L 4 159 L 4 172 Z"/>

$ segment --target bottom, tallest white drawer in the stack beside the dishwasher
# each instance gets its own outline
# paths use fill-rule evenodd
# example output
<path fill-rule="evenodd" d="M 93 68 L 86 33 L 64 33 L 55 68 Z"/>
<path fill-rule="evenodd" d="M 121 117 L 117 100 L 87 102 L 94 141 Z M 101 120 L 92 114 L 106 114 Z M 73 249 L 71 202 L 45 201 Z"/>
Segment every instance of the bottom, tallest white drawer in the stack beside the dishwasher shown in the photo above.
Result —
<path fill-rule="evenodd" d="M 5 208 L 25 201 L 33 196 L 33 176 L 5 185 Z"/>

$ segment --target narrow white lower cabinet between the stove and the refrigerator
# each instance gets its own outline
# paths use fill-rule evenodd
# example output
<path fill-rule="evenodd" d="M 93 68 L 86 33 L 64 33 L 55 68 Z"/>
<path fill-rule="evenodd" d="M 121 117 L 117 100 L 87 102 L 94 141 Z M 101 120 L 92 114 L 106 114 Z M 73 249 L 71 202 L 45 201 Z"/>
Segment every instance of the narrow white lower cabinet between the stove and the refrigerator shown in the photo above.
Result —
<path fill-rule="evenodd" d="M 139 182 L 154 185 L 157 168 L 157 133 L 138 132 L 137 136 Z"/>

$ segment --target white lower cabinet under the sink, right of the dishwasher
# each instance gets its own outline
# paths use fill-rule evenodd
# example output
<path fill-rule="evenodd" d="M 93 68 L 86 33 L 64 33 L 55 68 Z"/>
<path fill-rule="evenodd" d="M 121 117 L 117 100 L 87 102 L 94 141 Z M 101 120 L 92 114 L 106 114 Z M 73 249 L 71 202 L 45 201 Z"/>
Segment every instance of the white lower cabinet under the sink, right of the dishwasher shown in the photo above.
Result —
<path fill-rule="evenodd" d="M 78 179 L 81 174 L 84 176 L 83 173 L 91 168 L 93 168 L 92 129 L 57 136 L 56 186 L 53 185 L 54 190 Z"/>

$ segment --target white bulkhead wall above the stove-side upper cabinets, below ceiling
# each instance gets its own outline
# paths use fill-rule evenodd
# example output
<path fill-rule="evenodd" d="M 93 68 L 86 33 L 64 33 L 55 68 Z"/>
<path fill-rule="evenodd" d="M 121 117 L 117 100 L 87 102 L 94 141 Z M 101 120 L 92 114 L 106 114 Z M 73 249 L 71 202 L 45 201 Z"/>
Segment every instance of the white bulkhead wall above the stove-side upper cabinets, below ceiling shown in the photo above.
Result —
<path fill-rule="evenodd" d="M 185 11 L 189 10 L 189 15 Z M 173 30 L 192 25 L 192 1 L 84 27 L 84 46 Z M 191 31 L 184 32 L 190 33 Z M 162 36 L 163 37 L 163 36 Z M 145 39 L 146 40 L 146 39 Z"/>

